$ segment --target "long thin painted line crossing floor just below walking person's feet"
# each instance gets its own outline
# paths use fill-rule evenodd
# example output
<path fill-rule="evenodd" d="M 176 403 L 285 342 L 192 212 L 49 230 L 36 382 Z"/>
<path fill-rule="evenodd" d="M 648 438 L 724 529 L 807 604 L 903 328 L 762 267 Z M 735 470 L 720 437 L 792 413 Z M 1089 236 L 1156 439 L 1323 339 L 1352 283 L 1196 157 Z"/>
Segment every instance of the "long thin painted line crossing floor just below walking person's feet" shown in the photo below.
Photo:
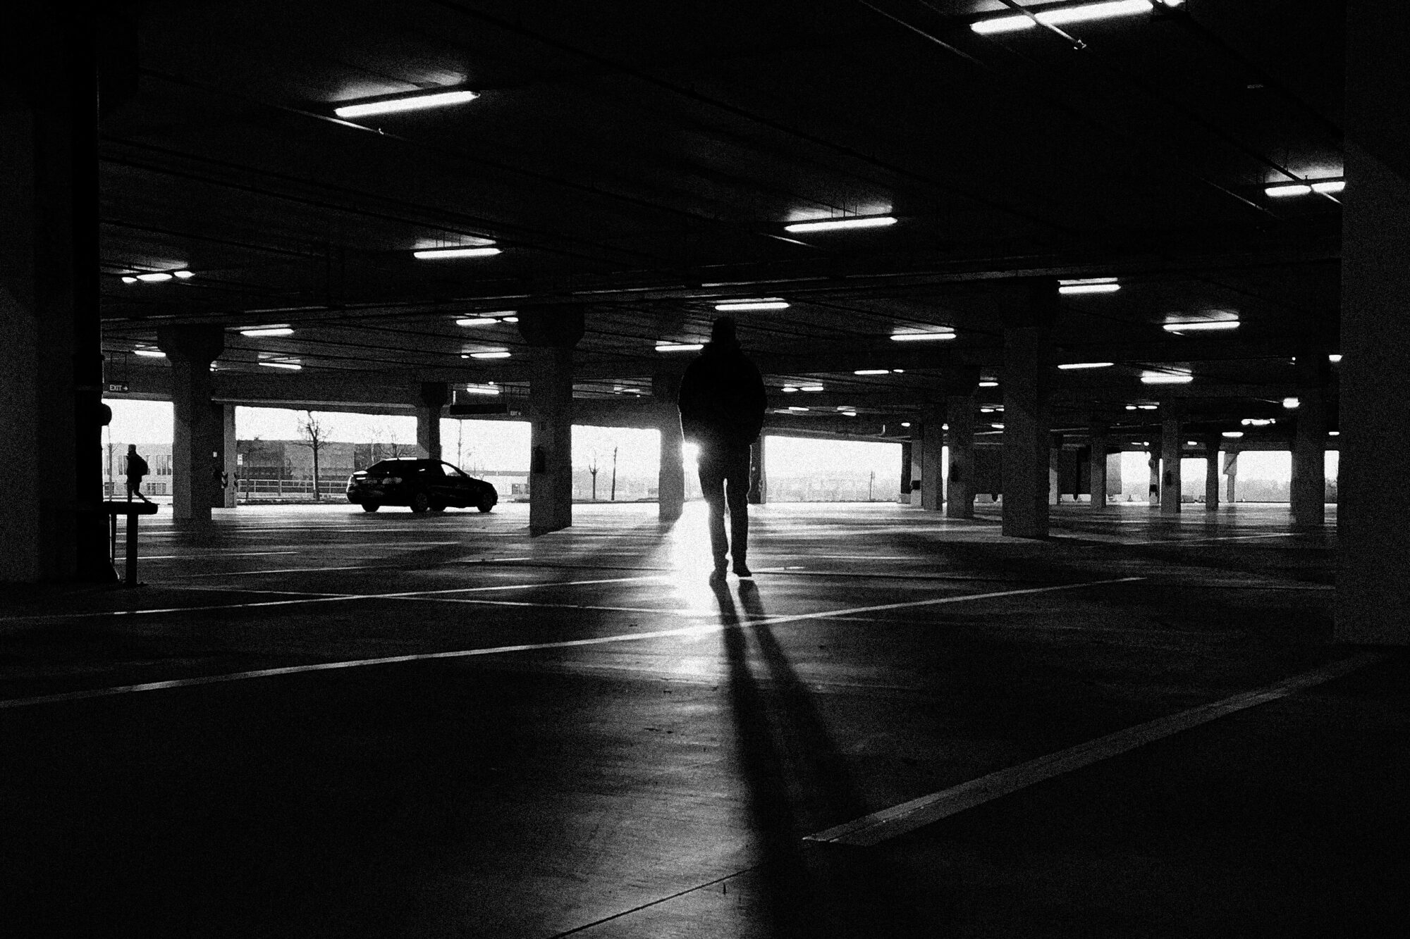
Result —
<path fill-rule="evenodd" d="M 630 579 L 653 579 L 653 578 L 615 578 L 615 581 L 630 581 Z M 852 613 L 866 613 L 878 609 L 900 609 L 907 606 L 932 606 L 936 603 L 963 603 L 967 601 L 993 599 L 998 596 L 1018 596 L 1024 594 L 1048 594 L 1052 591 L 1070 591 L 1084 587 L 1101 587 L 1107 584 L 1127 584 L 1131 581 L 1139 581 L 1139 577 L 1121 577 L 1110 581 L 1086 581 L 1081 584 L 1062 584 L 1059 587 L 1035 587 L 1022 591 L 997 591 L 993 594 L 967 594 L 962 596 L 940 596 L 935 599 L 925 601 L 911 601 L 908 603 L 881 603 L 877 606 L 853 606 L 849 609 L 835 609 L 835 610 L 821 610 L 814 613 L 792 613 L 787 616 L 766 616 L 763 619 L 756 619 L 750 622 L 728 622 L 728 623 L 697 623 L 692 626 L 678 626 L 675 629 L 654 629 L 640 633 L 616 633 L 612 636 L 595 636 L 591 639 L 564 639 L 551 643 L 525 643 L 520 646 L 492 646 L 489 649 L 457 649 L 453 651 L 440 653 L 413 653 L 407 656 L 386 656 L 382 658 L 354 658 L 350 661 L 327 661 L 314 665 L 288 665 L 283 668 L 259 668 L 257 671 L 237 671 L 224 675 L 202 675 L 199 678 L 173 678 L 171 681 L 148 681 L 140 685 L 118 685 L 116 688 L 93 688 L 89 691 L 68 691 L 56 695 L 39 695 L 37 698 L 11 698 L 8 701 L 0 701 L 0 709 L 6 708 L 25 708 L 30 705 L 41 704 L 56 704 L 61 701 L 85 701 L 87 698 L 111 698 L 116 695 L 135 694 L 141 691 L 162 691 L 166 688 L 192 688 L 196 685 L 214 685 L 230 681 L 244 681 L 247 678 L 272 678 L 276 675 L 302 675 L 313 671 L 337 671 L 343 668 L 367 668 L 369 665 L 395 665 L 412 661 L 431 661 L 436 658 L 471 658 L 477 656 L 499 656 L 505 653 L 516 651 L 536 651 L 541 649 L 577 649 L 581 646 L 605 646 L 611 643 L 633 643 L 643 639 L 666 639 L 671 636 L 708 636 L 711 633 L 722 633 L 726 629 L 747 629 L 753 626 L 771 626 L 774 623 L 791 623 L 802 619 L 829 619 L 833 616 L 847 616 Z M 584 584 L 603 584 L 613 581 L 581 581 Z M 536 585 L 530 585 L 536 587 Z M 567 584 L 556 584 L 554 587 L 568 587 Z M 470 588 L 470 589 L 495 589 L 495 588 Z M 457 591 L 440 591 L 453 594 Z M 388 595 L 371 595 L 371 598 L 381 596 L 413 596 L 417 592 L 410 594 L 388 594 Z M 330 598 L 343 599 L 343 598 Z M 293 601 L 293 602 L 323 602 L 320 599 L 309 601 Z M 250 606 L 272 606 L 278 605 L 279 601 L 274 603 L 250 603 Z M 736 618 L 732 618 L 736 619 Z"/>

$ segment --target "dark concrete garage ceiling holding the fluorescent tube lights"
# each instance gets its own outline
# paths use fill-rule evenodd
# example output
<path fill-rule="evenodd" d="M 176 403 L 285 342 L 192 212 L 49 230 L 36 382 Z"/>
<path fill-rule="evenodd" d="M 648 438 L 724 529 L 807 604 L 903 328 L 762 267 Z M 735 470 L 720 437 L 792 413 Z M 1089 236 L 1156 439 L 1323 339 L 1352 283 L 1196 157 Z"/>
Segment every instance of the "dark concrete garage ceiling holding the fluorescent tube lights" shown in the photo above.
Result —
<path fill-rule="evenodd" d="M 1062 299 L 1055 426 L 1170 395 L 1198 420 L 1276 413 L 1296 393 L 1292 358 L 1335 350 L 1341 220 L 1335 196 L 1263 186 L 1341 175 L 1342 4 L 1190 0 L 1063 27 L 1080 49 L 1042 28 L 969 28 L 1004 10 L 133 4 L 113 42 L 135 80 L 107 103 L 100 144 L 110 381 L 159 383 L 161 362 L 133 355 L 159 324 L 219 323 L 233 388 L 271 372 L 261 357 L 302 362 L 268 379 L 286 391 L 517 382 L 516 329 L 455 317 L 572 303 L 587 305 L 578 393 L 629 395 L 668 360 L 656 343 L 704 338 L 716 302 L 778 296 L 787 310 L 737 314 L 774 405 L 811 379 L 826 388 L 815 410 L 854 407 L 850 426 L 876 433 L 943 395 L 955 368 L 998 376 L 1024 278 L 1120 276 L 1117 293 Z M 481 96 L 333 116 L 448 85 Z M 876 213 L 898 223 L 784 231 Z M 474 240 L 502 252 L 412 257 Z M 195 276 L 121 279 L 178 268 Z M 1160 329 L 1213 310 L 1241 327 Z M 234 331 L 261 323 L 296 331 Z M 936 326 L 956 338 L 890 341 Z M 512 355 L 462 358 L 484 350 Z M 1072 361 L 1117 365 L 1056 371 Z M 853 374 L 866 368 L 902 371 Z M 1149 368 L 1196 381 L 1145 386 Z M 809 419 L 849 423 L 778 420 Z"/>

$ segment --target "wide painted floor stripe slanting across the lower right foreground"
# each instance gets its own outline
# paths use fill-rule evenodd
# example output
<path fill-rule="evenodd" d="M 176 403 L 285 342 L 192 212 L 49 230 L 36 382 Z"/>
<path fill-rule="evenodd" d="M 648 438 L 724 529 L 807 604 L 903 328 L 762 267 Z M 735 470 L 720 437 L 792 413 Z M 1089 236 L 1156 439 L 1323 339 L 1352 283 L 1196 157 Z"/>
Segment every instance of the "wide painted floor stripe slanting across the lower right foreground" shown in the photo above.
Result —
<path fill-rule="evenodd" d="M 1332 678 L 1340 678 L 1365 665 L 1380 661 L 1383 656 L 1363 653 L 1351 656 L 1341 661 L 1334 661 L 1321 668 L 1304 671 L 1285 681 L 1279 681 L 1255 691 L 1224 698 L 1213 704 L 1180 711 L 1179 713 L 1138 723 L 1134 728 L 1108 733 L 1104 737 L 1079 743 L 1074 747 L 1041 756 L 1018 766 L 998 770 L 977 780 L 952 785 L 948 790 L 922 795 L 921 798 L 901 802 L 891 808 L 863 815 L 859 819 L 845 822 L 835 828 L 816 832 L 804 837 L 805 842 L 825 842 L 829 845 L 849 845 L 852 847 L 869 847 L 884 840 L 914 832 L 918 828 L 931 825 L 950 815 L 957 815 L 964 809 L 991 802 L 997 798 L 1011 795 L 1045 780 L 1050 780 L 1073 770 L 1110 760 L 1114 756 L 1135 750 L 1155 740 L 1162 740 L 1182 730 L 1197 728 L 1237 711 L 1255 708 L 1269 701 L 1277 701 L 1287 695 L 1320 685 Z"/>

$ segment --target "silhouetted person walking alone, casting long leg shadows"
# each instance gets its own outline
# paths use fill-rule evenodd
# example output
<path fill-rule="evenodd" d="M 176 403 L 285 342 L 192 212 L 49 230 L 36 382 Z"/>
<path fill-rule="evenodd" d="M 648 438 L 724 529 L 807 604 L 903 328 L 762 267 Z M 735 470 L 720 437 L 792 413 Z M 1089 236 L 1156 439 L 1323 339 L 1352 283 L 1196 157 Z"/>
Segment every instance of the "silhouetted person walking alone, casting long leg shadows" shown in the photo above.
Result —
<path fill-rule="evenodd" d="M 735 574 L 753 577 L 749 553 L 749 448 L 764 427 L 764 381 L 739 348 L 735 320 L 715 320 L 709 344 L 689 364 L 678 399 L 681 431 L 699 447 L 701 492 L 709 505 L 709 546 L 715 574 L 725 572 L 725 556 Z M 729 506 L 729 539 L 725 506 Z"/>

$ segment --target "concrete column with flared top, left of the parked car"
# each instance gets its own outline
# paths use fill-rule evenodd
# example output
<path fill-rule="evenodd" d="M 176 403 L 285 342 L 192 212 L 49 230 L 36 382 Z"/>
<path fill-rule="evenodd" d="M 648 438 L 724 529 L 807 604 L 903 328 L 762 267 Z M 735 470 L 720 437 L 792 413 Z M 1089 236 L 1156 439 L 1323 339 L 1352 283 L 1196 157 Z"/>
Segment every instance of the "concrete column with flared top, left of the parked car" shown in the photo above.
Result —
<path fill-rule="evenodd" d="M 172 372 L 172 519 L 210 522 L 221 503 L 220 458 L 226 436 L 223 412 L 210 400 L 210 364 L 226 347 L 219 326 L 164 326 L 157 344 Z"/>

